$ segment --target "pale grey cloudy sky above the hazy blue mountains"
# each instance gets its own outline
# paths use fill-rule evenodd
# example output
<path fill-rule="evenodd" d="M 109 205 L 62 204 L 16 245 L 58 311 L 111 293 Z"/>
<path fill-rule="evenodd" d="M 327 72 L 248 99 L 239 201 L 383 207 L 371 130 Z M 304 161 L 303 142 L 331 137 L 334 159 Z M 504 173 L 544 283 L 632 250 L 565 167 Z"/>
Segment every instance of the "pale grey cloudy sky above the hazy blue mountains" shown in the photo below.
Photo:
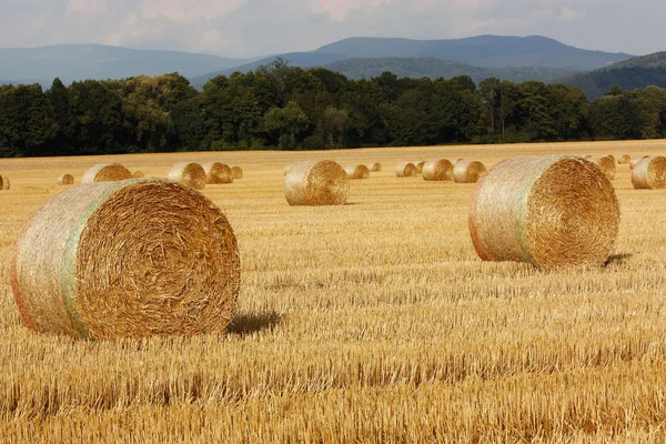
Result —
<path fill-rule="evenodd" d="M 585 49 L 666 50 L 665 0 L 0 0 L 0 47 L 101 43 L 228 57 L 347 37 L 546 36 Z"/>

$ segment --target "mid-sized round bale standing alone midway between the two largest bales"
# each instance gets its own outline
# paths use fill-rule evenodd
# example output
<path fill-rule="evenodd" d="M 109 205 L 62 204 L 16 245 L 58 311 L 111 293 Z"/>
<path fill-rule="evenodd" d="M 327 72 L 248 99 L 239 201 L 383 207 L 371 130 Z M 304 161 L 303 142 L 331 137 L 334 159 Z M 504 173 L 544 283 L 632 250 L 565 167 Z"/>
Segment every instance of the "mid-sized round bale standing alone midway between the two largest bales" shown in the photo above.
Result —
<path fill-rule="evenodd" d="M 350 178 L 332 160 L 294 164 L 284 178 L 290 205 L 343 205 L 350 194 Z"/>

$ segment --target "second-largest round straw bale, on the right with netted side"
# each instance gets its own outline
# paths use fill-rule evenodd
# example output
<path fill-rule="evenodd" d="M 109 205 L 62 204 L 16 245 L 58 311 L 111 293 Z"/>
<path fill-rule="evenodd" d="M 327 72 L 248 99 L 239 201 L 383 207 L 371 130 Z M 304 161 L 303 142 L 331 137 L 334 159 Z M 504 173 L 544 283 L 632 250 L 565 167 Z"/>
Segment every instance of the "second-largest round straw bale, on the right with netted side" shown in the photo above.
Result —
<path fill-rule="evenodd" d="M 484 261 L 543 270 L 602 265 L 619 228 L 615 189 L 592 162 L 571 155 L 514 158 L 476 184 L 470 233 Z"/>

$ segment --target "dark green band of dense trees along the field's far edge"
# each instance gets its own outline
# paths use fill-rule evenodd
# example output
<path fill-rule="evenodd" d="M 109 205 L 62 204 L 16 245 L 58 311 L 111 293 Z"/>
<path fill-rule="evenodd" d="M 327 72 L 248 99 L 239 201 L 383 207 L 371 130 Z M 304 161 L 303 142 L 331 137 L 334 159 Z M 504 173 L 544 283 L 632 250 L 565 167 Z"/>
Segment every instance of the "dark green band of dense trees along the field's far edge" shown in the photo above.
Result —
<path fill-rule="evenodd" d="M 370 80 L 290 67 L 0 87 L 0 155 L 435 145 L 666 137 L 666 90 L 575 88 L 491 78 Z"/>

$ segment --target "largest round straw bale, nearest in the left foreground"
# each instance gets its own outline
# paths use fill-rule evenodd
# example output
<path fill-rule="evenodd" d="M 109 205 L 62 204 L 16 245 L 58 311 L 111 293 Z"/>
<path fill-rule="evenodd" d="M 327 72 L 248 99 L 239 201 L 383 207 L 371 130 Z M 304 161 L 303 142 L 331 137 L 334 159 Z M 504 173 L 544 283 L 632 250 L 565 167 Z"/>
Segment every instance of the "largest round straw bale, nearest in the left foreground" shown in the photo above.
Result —
<path fill-rule="evenodd" d="M 180 183 L 134 179 L 47 201 L 19 235 L 10 279 L 30 329 L 105 340 L 222 331 L 240 270 L 214 203 Z"/>

